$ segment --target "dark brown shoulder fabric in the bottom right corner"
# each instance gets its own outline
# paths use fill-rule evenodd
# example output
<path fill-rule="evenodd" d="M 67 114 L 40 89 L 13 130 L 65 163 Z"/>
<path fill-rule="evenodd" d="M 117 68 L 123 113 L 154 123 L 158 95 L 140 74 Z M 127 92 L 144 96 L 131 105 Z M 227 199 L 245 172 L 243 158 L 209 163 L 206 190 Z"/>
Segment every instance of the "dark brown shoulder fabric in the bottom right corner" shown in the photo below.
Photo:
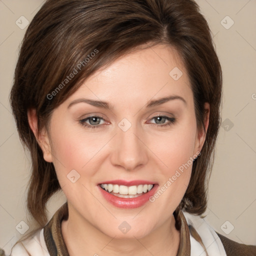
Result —
<path fill-rule="evenodd" d="M 235 242 L 224 235 L 216 232 L 220 238 L 227 256 L 238 256 L 238 255 L 247 255 L 255 256 L 256 255 L 256 245 L 247 245 L 243 243 Z"/>

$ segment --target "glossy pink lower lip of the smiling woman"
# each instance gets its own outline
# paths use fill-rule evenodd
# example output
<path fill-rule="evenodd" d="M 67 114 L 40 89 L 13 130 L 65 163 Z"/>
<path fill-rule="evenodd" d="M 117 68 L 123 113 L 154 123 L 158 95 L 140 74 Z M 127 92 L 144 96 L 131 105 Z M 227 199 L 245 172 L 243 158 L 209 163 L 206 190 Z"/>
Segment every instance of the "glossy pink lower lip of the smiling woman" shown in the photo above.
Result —
<path fill-rule="evenodd" d="M 155 190 L 157 189 L 158 185 L 154 184 L 154 186 L 150 191 L 138 197 L 133 197 L 133 198 L 117 197 L 113 194 L 108 193 L 106 190 L 102 189 L 100 185 L 98 185 L 98 187 L 103 197 L 114 206 L 118 208 L 137 208 L 144 205 L 149 200 L 149 197 L 155 193 Z"/>

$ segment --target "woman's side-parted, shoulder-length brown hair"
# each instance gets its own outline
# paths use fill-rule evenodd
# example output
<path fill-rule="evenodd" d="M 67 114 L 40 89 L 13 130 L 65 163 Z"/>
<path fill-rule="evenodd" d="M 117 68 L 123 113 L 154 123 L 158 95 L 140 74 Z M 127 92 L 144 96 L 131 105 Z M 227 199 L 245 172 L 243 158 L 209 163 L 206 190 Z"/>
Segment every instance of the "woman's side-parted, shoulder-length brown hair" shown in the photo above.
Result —
<path fill-rule="evenodd" d="M 32 159 L 27 208 L 41 227 L 47 222 L 47 201 L 61 188 L 29 127 L 27 109 L 36 109 L 39 130 L 93 72 L 137 47 L 158 43 L 170 45 L 182 59 L 198 129 L 204 129 L 204 102 L 210 104 L 205 142 L 179 205 L 193 214 L 205 211 L 205 180 L 220 125 L 222 73 L 199 6 L 193 0 L 47 0 L 26 30 L 10 93 L 19 136 Z M 74 69 L 73 78 L 65 80 Z"/>

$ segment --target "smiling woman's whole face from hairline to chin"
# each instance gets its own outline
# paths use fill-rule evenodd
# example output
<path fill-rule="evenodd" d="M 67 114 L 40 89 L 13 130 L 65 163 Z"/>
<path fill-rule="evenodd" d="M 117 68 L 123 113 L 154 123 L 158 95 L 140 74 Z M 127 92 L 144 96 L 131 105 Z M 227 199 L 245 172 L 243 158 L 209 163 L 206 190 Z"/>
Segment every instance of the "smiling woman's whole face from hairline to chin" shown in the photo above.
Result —
<path fill-rule="evenodd" d="M 85 80 L 53 111 L 46 138 L 44 159 L 54 164 L 69 217 L 139 238 L 168 223 L 205 137 L 179 56 L 156 45 Z"/>

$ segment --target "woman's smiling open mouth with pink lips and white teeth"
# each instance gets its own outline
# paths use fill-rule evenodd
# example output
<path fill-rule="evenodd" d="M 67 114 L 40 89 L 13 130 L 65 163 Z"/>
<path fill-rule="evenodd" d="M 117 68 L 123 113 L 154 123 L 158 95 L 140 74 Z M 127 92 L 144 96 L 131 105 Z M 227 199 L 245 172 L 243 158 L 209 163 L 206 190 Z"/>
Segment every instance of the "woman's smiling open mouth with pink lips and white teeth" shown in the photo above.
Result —
<path fill-rule="evenodd" d="M 158 184 L 144 180 L 110 180 L 98 184 L 103 198 L 119 208 L 136 208 L 145 204 Z"/>

